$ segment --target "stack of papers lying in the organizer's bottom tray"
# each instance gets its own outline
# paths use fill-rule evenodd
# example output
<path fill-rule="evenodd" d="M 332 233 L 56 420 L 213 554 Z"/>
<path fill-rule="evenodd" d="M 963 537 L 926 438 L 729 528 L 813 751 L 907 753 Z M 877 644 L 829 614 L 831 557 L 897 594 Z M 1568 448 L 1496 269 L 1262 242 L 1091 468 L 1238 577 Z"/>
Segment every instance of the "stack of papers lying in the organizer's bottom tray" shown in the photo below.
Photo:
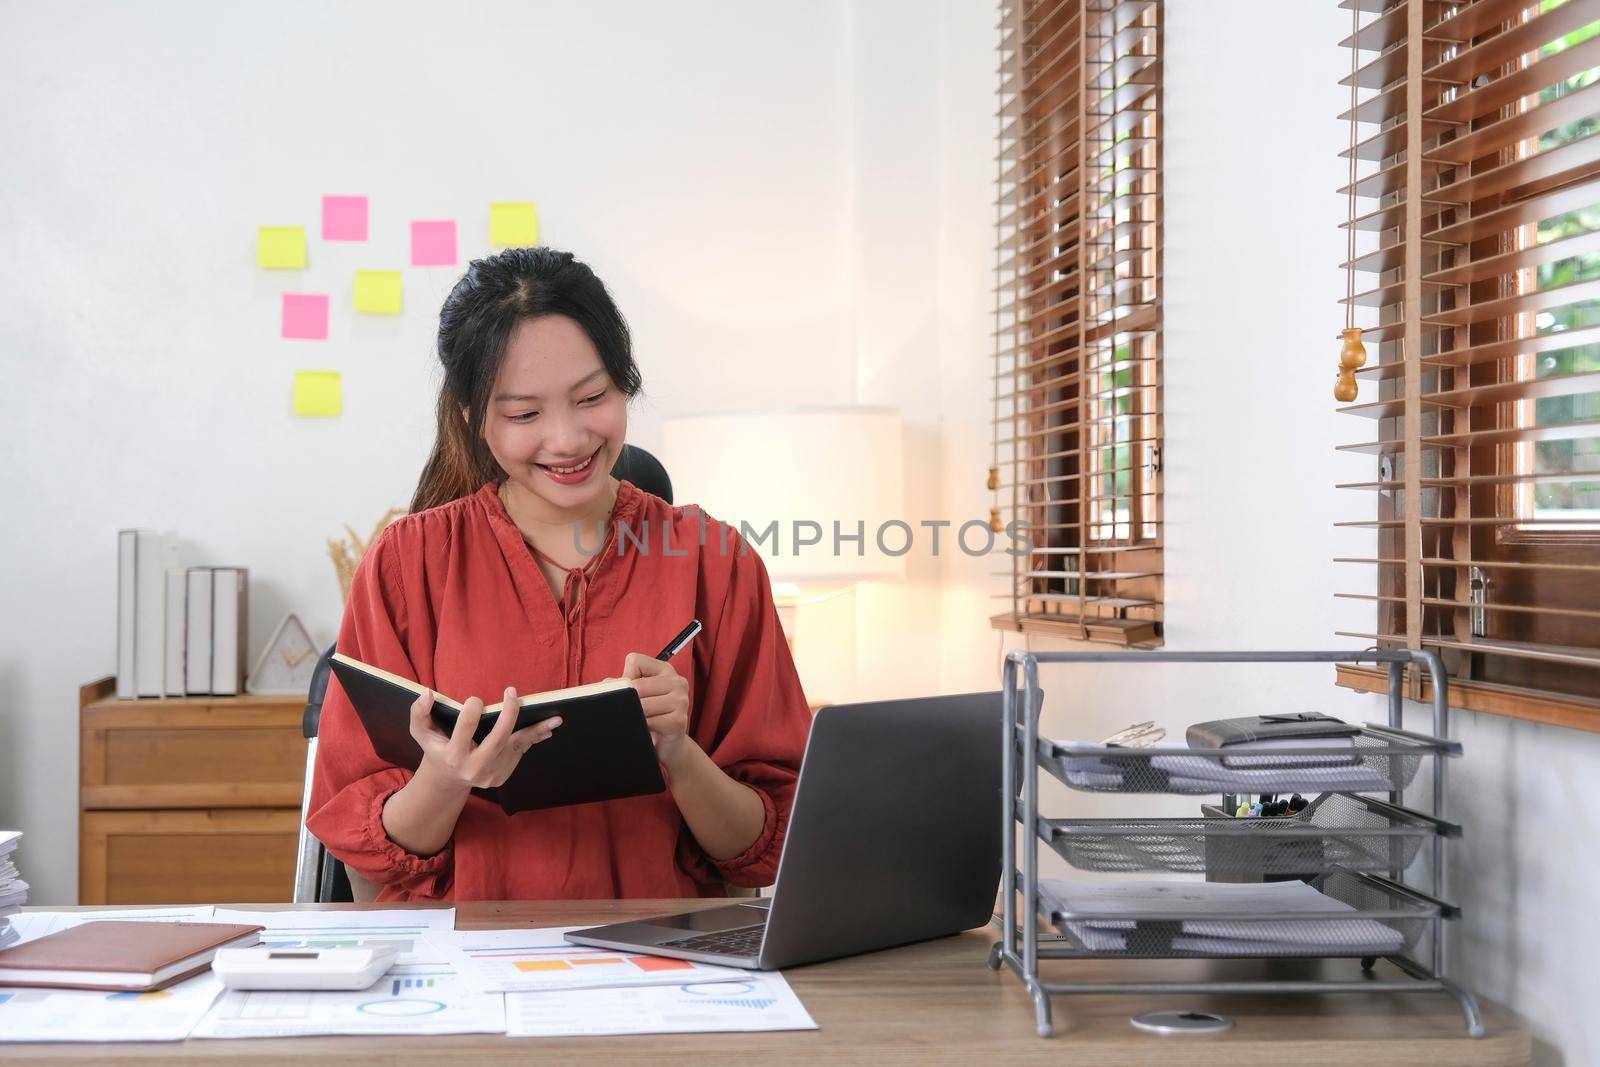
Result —
<path fill-rule="evenodd" d="M 1142 952 L 1141 923 L 1170 933 L 1171 950 L 1205 955 L 1390 955 L 1405 936 L 1304 881 L 1038 883 L 1040 897 L 1091 952 Z M 1256 915 L 1304 915 L 1256 920 Z M 1077 917 L 1077 918 L 1075 918 Z M 1152 933 L 1154 936 L 1154 933 Z"/>

